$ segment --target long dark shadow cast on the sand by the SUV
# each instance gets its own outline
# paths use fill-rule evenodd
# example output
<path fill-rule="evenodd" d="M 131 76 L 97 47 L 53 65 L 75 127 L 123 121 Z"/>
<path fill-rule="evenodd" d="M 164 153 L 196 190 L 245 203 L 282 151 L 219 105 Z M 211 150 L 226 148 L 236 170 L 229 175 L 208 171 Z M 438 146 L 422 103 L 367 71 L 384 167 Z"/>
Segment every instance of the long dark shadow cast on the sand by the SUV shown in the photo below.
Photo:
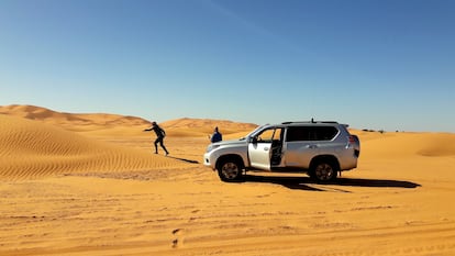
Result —
<path fill-rule="evenodd" d="M 245 175 L 243 182 L 260 182 L 260 183 L 276 183 L 289 189 L 308 190 L 308 191 L 340 191 L 351 192 L 341 187 L 365 187 L 365 188 L 404 188 L 413 189 L 421 187 L 421 185 L 391 179 L 353 179 L 353 178 L 337 178 L 331 182 L 315 182 L 309 177 L 280 177 L 280 176 L 258 176 Z M 326 186 L 331 188 L 328 188 Z"/>

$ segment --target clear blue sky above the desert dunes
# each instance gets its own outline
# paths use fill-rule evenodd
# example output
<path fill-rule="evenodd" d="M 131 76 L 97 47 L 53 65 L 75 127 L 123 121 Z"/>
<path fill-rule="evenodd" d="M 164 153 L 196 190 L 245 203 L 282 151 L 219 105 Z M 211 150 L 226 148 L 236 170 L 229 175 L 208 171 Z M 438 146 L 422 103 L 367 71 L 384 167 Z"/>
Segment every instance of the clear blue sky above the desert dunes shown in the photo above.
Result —
<path fill-rule="evenodd" d="M 452 0 L 0 0 L 0 105 L 455 132 Z"/>

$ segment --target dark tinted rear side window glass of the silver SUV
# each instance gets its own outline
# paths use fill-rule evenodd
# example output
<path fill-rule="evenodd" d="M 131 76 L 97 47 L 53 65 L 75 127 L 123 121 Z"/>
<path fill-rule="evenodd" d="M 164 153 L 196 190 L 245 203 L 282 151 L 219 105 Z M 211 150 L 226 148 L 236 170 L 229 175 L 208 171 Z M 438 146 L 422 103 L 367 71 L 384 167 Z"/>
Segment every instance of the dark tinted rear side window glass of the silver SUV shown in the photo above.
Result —
<path fill-rule="evenodd" d="M 332 141 L 337 133 L 334 126 L 291 126 L 288 127 L 286 141 Z"/>

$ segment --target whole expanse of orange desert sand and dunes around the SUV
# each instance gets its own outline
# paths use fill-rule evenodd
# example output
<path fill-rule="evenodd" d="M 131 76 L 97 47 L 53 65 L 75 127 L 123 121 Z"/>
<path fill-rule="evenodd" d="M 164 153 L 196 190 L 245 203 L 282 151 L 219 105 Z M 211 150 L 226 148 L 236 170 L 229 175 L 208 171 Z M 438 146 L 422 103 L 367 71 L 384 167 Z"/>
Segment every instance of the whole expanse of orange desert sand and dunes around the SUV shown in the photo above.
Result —
<path fill-rule="evenodd" d="M 0 255 L 455 255 L 455 134 L 364 132 L 334 183 L 249 172 L 221 182 L 208 134 L 254 124 L 149 122 L 0 107 Z"/>

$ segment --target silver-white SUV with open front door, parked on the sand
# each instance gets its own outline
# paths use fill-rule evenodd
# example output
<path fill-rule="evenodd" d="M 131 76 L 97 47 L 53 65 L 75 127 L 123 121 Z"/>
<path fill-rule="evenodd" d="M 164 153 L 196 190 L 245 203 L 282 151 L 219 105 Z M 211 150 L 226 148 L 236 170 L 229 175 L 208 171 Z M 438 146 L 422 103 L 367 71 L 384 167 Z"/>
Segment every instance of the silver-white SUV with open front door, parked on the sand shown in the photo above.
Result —
<path fill-rule="evenodd" d="M 240 140 L 210 144 L 203 163 L 223 181 L 237 181 L 248 169 L 303 171 L 330 181 L 356 168 L 359 154 L 360 142 L 346 124 L 312 120 L 266 124 Z"/>

